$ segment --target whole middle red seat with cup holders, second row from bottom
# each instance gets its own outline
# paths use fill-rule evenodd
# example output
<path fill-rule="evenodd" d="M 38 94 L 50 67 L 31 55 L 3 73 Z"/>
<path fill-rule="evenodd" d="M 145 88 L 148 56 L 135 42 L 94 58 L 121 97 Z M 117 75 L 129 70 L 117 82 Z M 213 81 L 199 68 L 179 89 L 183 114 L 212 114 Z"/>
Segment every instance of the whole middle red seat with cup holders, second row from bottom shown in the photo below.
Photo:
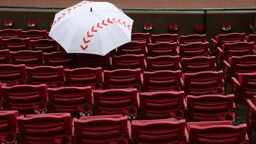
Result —
<path fill-rule="evenodd" d="M 137 90 L 113 89 L 94 90 L 93 103 L 78 108 L 81 116 L 90 115 L 118 115 L 128 119 L 137 119 Z"/>

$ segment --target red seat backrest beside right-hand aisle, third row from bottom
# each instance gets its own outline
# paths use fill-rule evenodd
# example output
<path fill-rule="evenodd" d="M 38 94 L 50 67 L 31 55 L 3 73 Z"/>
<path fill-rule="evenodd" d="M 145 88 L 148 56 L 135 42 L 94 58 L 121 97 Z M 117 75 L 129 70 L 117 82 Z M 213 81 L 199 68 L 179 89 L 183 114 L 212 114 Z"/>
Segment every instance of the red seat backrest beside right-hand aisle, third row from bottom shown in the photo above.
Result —
<path fill-rule="evenodd" d="M 182 74 L 185 95 L 224 94 L 223 71 Z M 216 91 L 216 93 L 214 93 Z"/>

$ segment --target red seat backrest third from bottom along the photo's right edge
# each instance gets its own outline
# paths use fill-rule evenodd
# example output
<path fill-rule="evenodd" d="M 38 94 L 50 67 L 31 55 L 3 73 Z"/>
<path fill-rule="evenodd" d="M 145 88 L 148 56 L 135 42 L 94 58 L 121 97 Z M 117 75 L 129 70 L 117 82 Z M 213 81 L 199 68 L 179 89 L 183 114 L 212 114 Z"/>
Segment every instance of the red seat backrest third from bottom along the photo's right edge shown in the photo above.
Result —
<path fill-rule="evenodd" d="M 240 73 L 256 72 L 256 56 L 232 56 L 228 58 L 228 64 L 230 68 L 224 67 L 223 71 L 226 73 L 229 70 L 229 75 L 237 79 Z M 224 75 L 226 77 L 226 74 Z"/>

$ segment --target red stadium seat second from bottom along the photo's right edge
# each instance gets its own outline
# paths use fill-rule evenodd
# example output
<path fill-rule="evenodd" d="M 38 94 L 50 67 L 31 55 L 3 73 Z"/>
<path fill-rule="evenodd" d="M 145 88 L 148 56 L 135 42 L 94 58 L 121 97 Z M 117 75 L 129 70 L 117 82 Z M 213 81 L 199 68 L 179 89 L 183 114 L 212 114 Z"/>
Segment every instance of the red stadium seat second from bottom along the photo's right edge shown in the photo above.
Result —
<path fill-rule="evenodd" d="M 246 100 L 253 100 L 256 95 L 256 72 L 238 74 L 238 78 L 231 77 L 232 93 L 236 103 L 246 105 Z"/>

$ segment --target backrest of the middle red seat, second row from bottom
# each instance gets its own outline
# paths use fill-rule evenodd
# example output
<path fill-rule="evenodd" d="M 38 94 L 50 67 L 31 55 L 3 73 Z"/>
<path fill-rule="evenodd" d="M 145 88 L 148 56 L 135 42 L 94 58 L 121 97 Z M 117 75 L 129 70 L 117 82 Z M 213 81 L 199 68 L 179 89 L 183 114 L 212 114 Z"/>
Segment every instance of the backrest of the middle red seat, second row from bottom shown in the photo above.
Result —
<path fill-rule="evenodd" d="M 137 103 L 137 90 L 112 89 L 94 90 L 93 92 L 93 115 L 118 115 L 123 110 Z"/>

